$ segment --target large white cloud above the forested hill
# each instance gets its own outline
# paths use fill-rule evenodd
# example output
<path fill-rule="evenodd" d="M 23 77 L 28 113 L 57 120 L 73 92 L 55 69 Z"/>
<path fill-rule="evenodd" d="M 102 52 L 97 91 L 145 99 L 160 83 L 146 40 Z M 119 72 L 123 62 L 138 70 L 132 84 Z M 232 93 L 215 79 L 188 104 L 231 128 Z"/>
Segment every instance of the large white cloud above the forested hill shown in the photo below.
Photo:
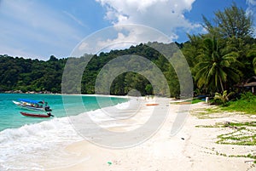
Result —
<path fill-rule="evenodd" d="M 96 47 L 128 48 L 137 43 L 154 41 L 170 43 L 177 40 L 177 29 L 179 33 L 203 30 L 201 25 L 191 23 L 184 17 L 184 13 L 192 9 L 195 0 L 96 0 L 96 2 L 107 9 L 105 19 L 113 26 L 117 26 L 116 31 L 119 32 L 114 38 L 95 43 Z M 135 26 L 126 26 L 130 24 Z M 125 29 L 120 29 L 122 25 L 125 25 Z M 145 29 L 143 26 L 148 26 L 150 29 Z M 154 29 L 156 31 L 153 31 Z M 161 33 L 155 35 L 157 31 Z"/>

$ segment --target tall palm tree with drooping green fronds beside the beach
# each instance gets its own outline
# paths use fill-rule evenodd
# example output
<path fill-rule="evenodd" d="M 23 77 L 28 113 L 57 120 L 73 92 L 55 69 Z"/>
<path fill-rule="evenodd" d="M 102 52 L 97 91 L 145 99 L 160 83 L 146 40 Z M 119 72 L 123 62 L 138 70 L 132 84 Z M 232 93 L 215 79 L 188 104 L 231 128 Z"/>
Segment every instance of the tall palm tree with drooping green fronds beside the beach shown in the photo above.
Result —
<path fill-rule="evenodd" d="M 215 37 L 206 38 L 203 48 L 198 56 L 199 63 L 195 66 L 195 80 L 199 88 L 206 88 L 211 93 L 224 92 L 224 86 L 228 80 L 238 81 L 239 71 L 234 64 L 239 63 L 237 53 L 225 53 L 218 47 Z"/>

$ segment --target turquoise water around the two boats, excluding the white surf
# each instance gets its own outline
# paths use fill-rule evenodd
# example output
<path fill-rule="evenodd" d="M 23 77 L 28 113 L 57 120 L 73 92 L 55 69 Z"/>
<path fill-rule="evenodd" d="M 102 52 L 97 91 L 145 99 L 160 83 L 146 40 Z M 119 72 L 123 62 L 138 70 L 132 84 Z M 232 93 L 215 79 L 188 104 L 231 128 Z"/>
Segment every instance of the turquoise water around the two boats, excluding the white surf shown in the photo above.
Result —
<path fill-rule="evenodd" d="M 79 103 L 80 98 L 83 103 Z M 13 103 L 13 100 L 17 101 L 18 99 L 47 101 L 53 110 L 51 113 L 55 117 L 69 117 L 71 115 L 78 115 L 84 111 L 94 111 L 101 107 L 117 105 L 127 101 L 125 98 L 94 95 L 81 95 L 78 97 L 78 95 L 61 94 L 0 94 L 0 131 L 6 128 L 19 128 L 26 124 L 39 123 L 50 119 L 22 116 L 20 111 L 31 113 L 38 111 L 21 109 Z M 65 100 L 65 104 L 63 104 L 63 100 Z M 101 106 L 99 105 L 99 101 Z"/>

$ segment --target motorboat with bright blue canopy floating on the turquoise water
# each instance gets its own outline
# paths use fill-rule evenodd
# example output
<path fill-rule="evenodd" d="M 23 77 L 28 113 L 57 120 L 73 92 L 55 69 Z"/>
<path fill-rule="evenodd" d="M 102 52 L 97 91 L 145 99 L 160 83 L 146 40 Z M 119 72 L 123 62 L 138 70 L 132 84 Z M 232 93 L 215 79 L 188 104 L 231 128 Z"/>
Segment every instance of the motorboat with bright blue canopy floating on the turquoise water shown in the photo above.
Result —
<path fill-rule="evenodd" d="M 15 105 L 18 105 L 22 108 L 33 110 L 33 111 L 52 111 L 49 108 L 47 102 L 44 100 L 26 100 L 26 99 L 19 99 L 19 101 L 13 100 Z"/>

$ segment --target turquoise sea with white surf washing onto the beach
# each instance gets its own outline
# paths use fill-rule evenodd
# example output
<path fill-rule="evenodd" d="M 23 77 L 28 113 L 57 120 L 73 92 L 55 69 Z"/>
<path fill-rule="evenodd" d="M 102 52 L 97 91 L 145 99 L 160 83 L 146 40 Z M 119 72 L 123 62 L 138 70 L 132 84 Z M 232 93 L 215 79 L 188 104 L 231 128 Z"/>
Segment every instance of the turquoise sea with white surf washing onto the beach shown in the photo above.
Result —
<path fill-rule="evenodd" d="M 27 110 L 12 102 L 18 99 L 47 101 L 55 117 L 24 117 L 20 111 Z M 65 152 L 67 145 L 84 140 L 70 117 L 88 114 L 103 122 L 102 108 L 122 108 L 125 103 L 127 98 L 94 95 L 0 94 L 0 170 L 44 170 L 45 162 L 49 168 L 60 168 L 86 160 Z"/>

